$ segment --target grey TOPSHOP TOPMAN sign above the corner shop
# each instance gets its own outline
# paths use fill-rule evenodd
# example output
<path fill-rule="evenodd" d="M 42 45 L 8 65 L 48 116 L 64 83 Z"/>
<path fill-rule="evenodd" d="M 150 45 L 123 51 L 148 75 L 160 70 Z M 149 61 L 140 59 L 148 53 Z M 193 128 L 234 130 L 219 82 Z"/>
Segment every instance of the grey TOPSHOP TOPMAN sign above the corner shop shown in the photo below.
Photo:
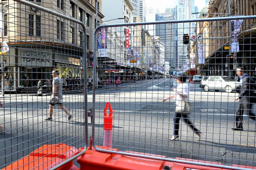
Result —
<path fill-rule="evenodd" d="M 42 51 L 33 48 L 31 50 L 20 49 L 18 50 L 18 56 L 20 56 L 18 64 L 51 66 L 53 63 L 52 49 L 42 49 Z"/>

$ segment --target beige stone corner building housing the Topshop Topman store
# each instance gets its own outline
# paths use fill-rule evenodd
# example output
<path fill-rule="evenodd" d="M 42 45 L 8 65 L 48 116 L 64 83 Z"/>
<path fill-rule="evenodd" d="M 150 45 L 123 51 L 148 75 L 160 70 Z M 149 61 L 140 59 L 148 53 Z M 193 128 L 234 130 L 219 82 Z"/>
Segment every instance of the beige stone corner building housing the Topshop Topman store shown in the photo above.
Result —
<path fill-rule="evenodd" d="M 95 21 L 104 16 L 101 1 L 98 1 L 98 18 L 95 18 L 96 1 L 32 1 L 41 7 L 75 18 L 86 25 L 83 32 L 80 25 L 41 12 L 15 1 L 3 1 L 8 8 L 4 11 L 4 38 L 9 44 L 6 74 L 12 75 L 13 87 L 10 91 L 37 85 L 38 80 L 51 78 L 51 71 L 58 69 L 64 78 L 67 75 L 79 77 L 83 67 L 83 36 L 86 37 L 88 58 L 93 54 L 93 31 Z M 18 12 L 19 5 L 24 12 Z M 25 12 L 26 11 L 26 12 Z M 20 18 L 19 20 L 15 18 Z M 17 43 L 19 42 L 19 43 Z M 70 49 L 66 47 L 70 46 Z M 91 65 L 91 63 L 86 63 Z M 70 70 L 69 68 L 72 68 Z M 69 74 L 69 71 L 72 74 Z M 91 72 L 90 72 L 91 71 Z M 88 72 L 92 74 L 92 69 Z"/>

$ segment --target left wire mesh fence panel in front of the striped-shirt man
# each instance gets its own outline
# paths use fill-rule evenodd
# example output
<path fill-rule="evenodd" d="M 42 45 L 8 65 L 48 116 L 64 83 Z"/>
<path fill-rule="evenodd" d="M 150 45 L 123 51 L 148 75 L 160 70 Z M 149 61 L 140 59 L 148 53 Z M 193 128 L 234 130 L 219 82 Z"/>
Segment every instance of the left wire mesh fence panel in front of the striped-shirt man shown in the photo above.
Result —
<path fill-rule="evenodd" d="M 51 153 L 46 150 L 59 143 L 76 149 L 86 147 L 86 56 L 82 25 L 61 14 L 45 12 L 42 7 L 37 9 L 16 1 L 3 1 L 3 5 L 1 61 L 5 64 L 1 62 L 0 169 L 43 145 L 47 145 L 42 149 L 47 157 Z M 59 73 L 52 75 L 54 70 Z M 59 98 L 55 106 L 53 95 Z M 52 120 L 46 121 L 49 117 Z M 64 150 L 65 156 L 51 166 L 72 159 L 77 153 Z M 40 156 L 34 158 L 37 160 Z M 28 164 L 24 160 L 18 166 Z"/>

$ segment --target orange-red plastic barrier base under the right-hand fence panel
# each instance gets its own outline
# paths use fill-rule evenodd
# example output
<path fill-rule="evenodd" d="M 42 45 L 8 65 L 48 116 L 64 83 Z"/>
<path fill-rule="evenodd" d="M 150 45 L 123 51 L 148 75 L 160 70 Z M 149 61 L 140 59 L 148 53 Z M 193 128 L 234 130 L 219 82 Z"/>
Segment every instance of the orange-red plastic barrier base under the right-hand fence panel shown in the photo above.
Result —
<path fill-rule="evenodd" d="M 148 155 L 148 154 L 147 154 Z M 156 156 L 156 155 L 154 155 Z M 162 156 L 166 157 L 166 156 Z M 182 158 L 177 158 L 181 159 Z M 183 159 L 184 160 L 184 159 Z M 187 161 L 194 161 L 187 159 Z M 77 162 L 80 164 L 81 170 L 186 170 L 186 169 L 196 169 L 196 170 L 225 170 L 225 168 L 213 168 L 208 166 L 197 166 L 187 163 L 174 163 L 169 161 L 159 161 L 154 159 L 139 158 L 133 156 L 124 156 L 119 154 L 110 154 L 97 152 L 94 148 L 87 150 L 85 154 L 79 156 Z M 199 161 L 204 162 L 204 161 Z M 211 162 L 207 162 L 211 163 Z M 220 164 L 221 163 L 211 163 Z M 238 165 L 234 165 L 238 166 Z M 245 168 L 245 166 L 239 166 Z M 252 167 L 246 167 L 251 168 Z"/>

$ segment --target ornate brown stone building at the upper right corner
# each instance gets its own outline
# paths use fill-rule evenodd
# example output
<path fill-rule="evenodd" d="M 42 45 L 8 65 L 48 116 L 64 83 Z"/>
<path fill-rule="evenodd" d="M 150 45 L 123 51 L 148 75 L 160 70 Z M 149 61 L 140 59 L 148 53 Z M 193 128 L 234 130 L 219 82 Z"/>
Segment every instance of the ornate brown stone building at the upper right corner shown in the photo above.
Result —
<path fill-rule="evenodd" d="M 209 6 L 203 17 L 249 16 L 256 14 L 256 1 L 254 0 L 209 0 Z M 229 14 L 230 11 L 230 14 Z M 236 30 L 236 25 L 241 25 Z M 247 72 L 256 69 L 255 53 L 255 19 L 220 20 L 205 22 L 197 34 L 208 36 L 206 46 L 206 65 L 209 75 L 234 76 L 238 66 L 243 66 Z M 208 31 L 205 31 L 205 29 Z M 206 38 L 207 39 L 207 38 Z M 229 63 L 229 57 L 234 57 L 234 63 Z M 202 69 L 203 66 L 200 67 Z"/>

